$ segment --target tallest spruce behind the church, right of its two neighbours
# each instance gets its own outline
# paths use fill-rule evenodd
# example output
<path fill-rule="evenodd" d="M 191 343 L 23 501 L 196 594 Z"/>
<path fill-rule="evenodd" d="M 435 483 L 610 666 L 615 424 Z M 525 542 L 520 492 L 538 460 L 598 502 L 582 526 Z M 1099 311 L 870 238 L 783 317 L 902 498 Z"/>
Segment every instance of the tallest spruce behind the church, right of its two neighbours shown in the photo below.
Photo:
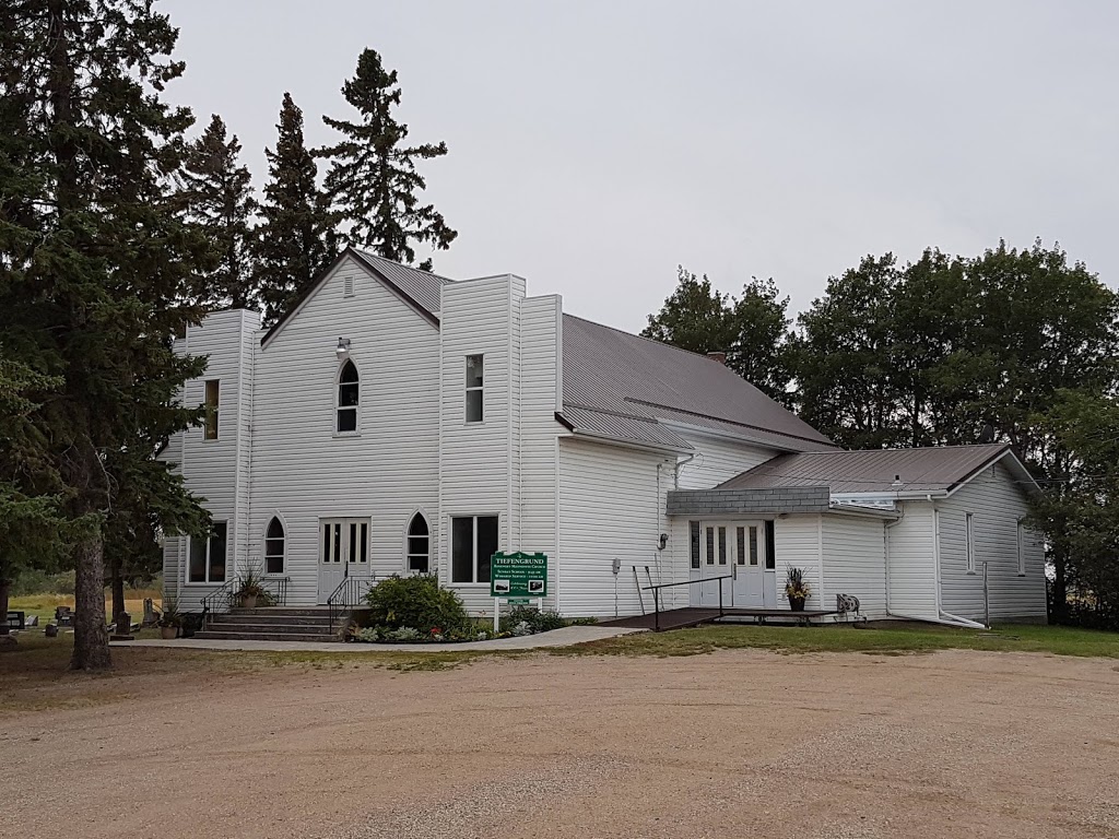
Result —
<path fill-rule="evenodd" d="M 380 56 L 366 49 L 342 95 L 357 109 L 360 121 L 323 116 L 322 121 L 346 140 L 317 154 L 330 159 L 326 190 L 350 241 L 407 264 L 415 261 L 413 242 L 438 251 L 449 248 L 459 234 L 432 205 L 421 206 L 419 194 L 426 181 L 415 168 L 417 159 L 446 154 L 446 143 L 404 145 L 408 126 L 393 116 L 393 109 L 401 104 L 396 70 L 386 70 Z M 420 267 L 430 270 L 431 260 Z"/>

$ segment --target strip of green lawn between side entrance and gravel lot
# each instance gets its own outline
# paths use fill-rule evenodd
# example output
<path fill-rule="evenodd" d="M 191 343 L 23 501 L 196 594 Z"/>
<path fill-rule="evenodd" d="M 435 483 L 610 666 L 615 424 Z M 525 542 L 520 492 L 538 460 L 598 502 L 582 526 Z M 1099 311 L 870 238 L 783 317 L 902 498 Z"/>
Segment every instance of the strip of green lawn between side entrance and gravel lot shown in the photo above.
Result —
<path fill-rule="evenodd" d="M 775 652 L 863 652 L 903 654 L 935 650 L 1045 652 L 1055 656 L 1119 658 L 1119 633 L 1071 626 L 1007 624 L 991 631 L 933 624 L 881 622 L 833 626 L 705 625 L 643 632 L 547 650 L 552 654 L 697 656 L 715 650 Z"/>

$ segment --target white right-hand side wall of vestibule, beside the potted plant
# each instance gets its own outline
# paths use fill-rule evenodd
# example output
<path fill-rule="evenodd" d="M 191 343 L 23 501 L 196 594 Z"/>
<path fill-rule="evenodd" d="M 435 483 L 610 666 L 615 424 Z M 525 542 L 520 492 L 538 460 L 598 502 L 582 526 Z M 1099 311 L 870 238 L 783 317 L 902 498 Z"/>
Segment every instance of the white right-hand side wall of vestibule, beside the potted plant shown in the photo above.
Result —
<path fill-rule="evenodd" d="M 886 616 L 883 525 L 883 519 L 866 516 L 824 516 L 825 609 L 835 609 L 837 594 L 853 594 L 863 615 L 872 620 Z"/>

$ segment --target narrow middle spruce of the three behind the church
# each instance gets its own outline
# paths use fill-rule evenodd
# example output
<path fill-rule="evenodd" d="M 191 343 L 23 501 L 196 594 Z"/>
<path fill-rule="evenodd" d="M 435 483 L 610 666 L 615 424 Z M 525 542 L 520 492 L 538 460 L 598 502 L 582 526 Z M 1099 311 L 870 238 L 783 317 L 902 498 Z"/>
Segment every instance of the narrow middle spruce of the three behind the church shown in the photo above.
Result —
<path fill-rule="evenodd" d="M 283 95 L 275 151 L 265 149 L 269 182 L 255 237 L 255 286 L 271 326 L 311 285 L 337 242 L 336 219 L 316 183 L 318 166 L 303 144 L 303 112 Z"/>

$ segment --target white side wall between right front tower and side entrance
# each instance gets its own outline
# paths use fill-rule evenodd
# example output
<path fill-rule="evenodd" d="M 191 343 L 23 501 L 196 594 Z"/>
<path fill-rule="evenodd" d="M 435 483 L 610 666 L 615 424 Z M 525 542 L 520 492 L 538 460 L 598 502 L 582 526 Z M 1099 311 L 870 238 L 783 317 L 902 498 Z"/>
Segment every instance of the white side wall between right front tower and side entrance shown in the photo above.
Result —
<path fill-rule="evenodd" d="M 633 566 L 648 565 L 653 582 L 671 582 L 680 563 L 673 552 L 657 549 L 668 532 L 665 516 L 675 458 L 589 441 L 560 440 L 558 591 L 563 613 L 571 616 L 639 614 Z M 659 468 L 659 491 L 658 491 Z M 678 526 L 675 531 L 678 531 Z M 687 522 L 684 522 L 685 532 Z M 677 537 L 671 539 L 678 541 Z M 684 539 L 685 552 L 687 539 Z M 613 573 L 613 560 L 621 573 Z M 687 554 L 684 554 L 687 578 Z M 683 587 L 683 586 L 680 586 Z M 642 592 L 646 605 L 649 592 Z M 681 600 L 679 605 L 684 605 Z"/>

